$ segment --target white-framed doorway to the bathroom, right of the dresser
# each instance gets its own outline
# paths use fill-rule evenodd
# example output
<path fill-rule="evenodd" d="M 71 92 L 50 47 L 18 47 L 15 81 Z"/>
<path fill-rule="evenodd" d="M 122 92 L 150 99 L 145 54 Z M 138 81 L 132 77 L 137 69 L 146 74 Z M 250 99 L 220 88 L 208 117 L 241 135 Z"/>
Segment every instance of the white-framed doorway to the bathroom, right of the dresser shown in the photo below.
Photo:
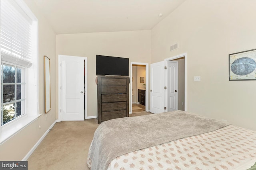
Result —
<path fill-rule="evenodd" d="M 130 114 L 148 111 L 148 63 L 131 62 Z"/>

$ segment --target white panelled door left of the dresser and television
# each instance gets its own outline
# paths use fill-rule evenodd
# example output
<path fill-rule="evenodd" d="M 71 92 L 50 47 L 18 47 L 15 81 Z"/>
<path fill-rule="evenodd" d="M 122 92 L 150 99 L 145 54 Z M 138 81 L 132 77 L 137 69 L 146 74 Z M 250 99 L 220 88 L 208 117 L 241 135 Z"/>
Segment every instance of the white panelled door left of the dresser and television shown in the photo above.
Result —
<path fill-rule="evenodd" d="M 61 57 L 61 121 L 84 120 L 84 58 Z"/>

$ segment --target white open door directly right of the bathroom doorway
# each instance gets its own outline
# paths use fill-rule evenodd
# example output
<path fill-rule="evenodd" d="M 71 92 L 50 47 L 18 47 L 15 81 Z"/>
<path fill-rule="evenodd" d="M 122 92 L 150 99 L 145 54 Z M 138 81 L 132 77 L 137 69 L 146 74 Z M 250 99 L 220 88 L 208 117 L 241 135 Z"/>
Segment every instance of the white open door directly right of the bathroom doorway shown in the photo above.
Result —
<path fill-rule="evenodd" d="M 164 61 L 150 64 L 150 112 L 164 112 Z"/>

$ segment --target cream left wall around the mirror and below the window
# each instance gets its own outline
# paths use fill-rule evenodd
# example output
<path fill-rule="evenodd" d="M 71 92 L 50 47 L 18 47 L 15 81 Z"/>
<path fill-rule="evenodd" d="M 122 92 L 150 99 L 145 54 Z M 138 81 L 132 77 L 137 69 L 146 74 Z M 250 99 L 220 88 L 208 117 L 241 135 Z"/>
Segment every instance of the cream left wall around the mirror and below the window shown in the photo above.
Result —
<path fill-rule="evenodd" d="M 0 160 L 22 160 L 56 120 L 56 34 L 34 1 L 24 2 L 38 19 L 39 111 L 42 115 L 0 145 Z M 44 55 L 50 58 L 51 63 L 51 110 L 47 114 L 44 113 Z"/>

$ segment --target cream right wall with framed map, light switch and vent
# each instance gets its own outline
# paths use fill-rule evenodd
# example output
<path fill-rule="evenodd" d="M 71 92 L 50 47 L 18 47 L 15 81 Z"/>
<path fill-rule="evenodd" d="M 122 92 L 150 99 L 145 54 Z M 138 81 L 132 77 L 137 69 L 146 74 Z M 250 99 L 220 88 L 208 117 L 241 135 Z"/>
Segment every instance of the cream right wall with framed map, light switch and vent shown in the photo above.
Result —
<path fill-rule="evenodd" d="M 256 48 L 255 6 L 187 0 L 152 29 L 152 63 L 187 53 L 188 111 L 256 130 L 256 81 L 228 80 L 228 54 Z M 179 49 L 170 52 L 174 43 Z"/>

